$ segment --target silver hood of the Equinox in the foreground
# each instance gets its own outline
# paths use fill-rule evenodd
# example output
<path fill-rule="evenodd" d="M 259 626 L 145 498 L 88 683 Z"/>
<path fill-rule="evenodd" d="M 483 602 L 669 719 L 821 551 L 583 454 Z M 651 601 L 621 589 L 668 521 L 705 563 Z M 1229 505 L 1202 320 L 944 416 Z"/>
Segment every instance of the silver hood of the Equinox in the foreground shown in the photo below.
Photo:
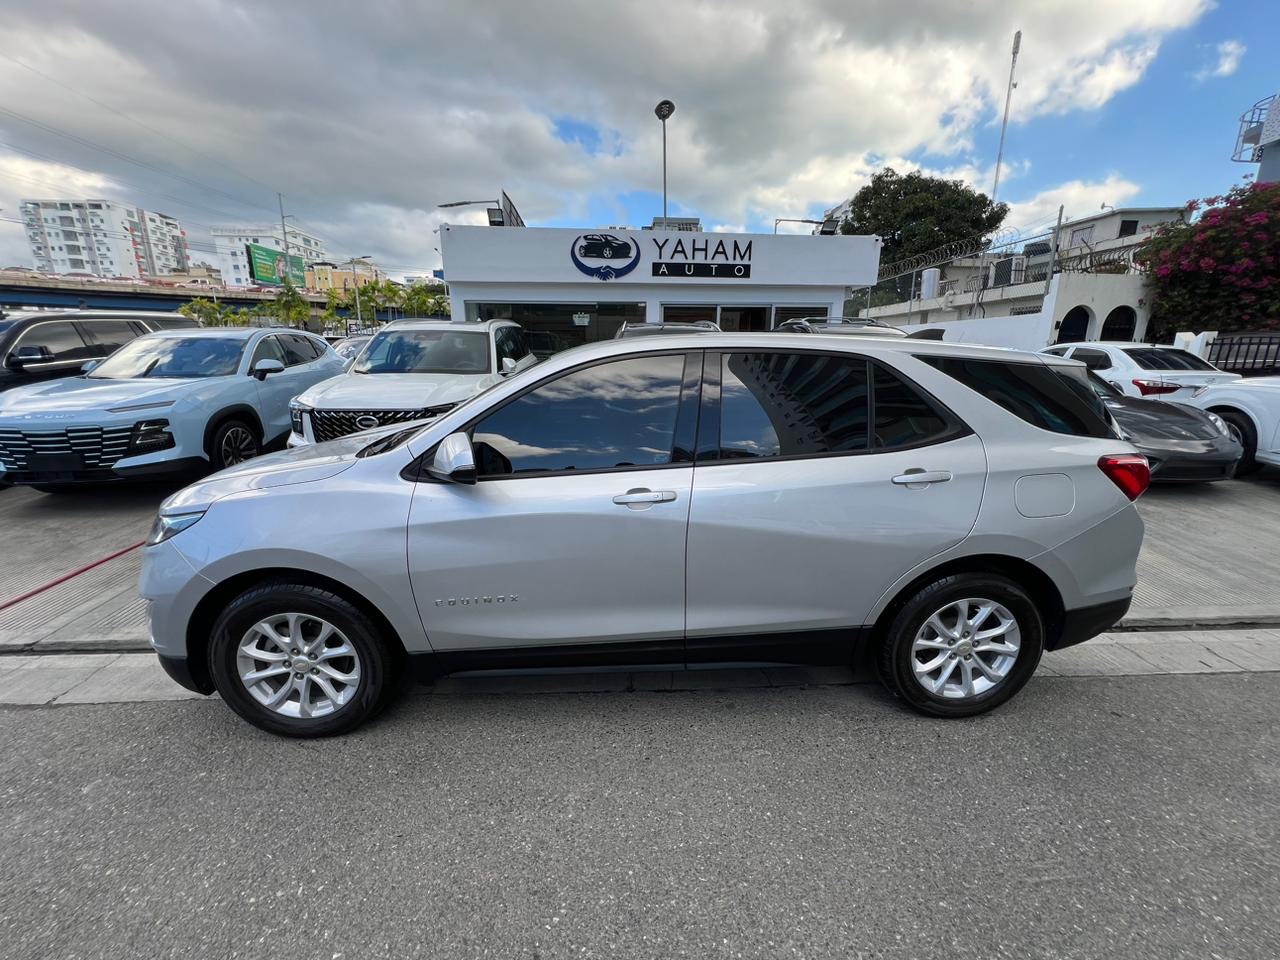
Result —
<path fill-rule="evenodd" d="M 356 454 L 379 435 L 401 429 L 403 425 L 397 424 L 394 428 L 365 430 L 329 443 L 294 447 L 265 457 L 255 457 L 178 490 L 160 504 L 160 512 L 195 513 L 236 493 L 328 480 L 349 468 L 356 462 Z"/>

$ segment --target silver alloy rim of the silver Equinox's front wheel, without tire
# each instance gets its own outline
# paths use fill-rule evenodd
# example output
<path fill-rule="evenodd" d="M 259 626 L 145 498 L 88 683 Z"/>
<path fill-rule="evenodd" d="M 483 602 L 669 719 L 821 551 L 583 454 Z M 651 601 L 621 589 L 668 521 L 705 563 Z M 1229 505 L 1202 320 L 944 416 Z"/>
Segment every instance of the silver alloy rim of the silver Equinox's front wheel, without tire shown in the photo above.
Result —
<path fill-rule="evenodd" d="M 259 705 L 283 717 L 337 713 L 360 690 L 360 654 L 333 623 L 311 613 L 265 617 L 241 637 L 236 669 Z"/>

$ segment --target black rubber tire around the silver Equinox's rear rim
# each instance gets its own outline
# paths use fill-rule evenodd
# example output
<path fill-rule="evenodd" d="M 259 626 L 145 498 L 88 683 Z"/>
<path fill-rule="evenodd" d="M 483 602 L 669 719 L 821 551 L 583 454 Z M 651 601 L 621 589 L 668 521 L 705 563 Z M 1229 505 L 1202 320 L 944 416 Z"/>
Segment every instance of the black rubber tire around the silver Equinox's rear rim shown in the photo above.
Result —
<path fill-rule="evenodd" d="M 995 600 L 1018 622 L 1020 648 L 1009 673 L 992 689 L 963 699 L 933 694 L 915 678 L 911 652 L 916 632 L 936 612 L 966 598 Z M 995 573 L 957 573 L 922 586 L 890 623 L 877 650 L 881 681 L 913 709 L 931 717 L 974 717 L 995 709 L 1025 686 L 1044 650 L 1044 618 L 1020 585 Z"/>

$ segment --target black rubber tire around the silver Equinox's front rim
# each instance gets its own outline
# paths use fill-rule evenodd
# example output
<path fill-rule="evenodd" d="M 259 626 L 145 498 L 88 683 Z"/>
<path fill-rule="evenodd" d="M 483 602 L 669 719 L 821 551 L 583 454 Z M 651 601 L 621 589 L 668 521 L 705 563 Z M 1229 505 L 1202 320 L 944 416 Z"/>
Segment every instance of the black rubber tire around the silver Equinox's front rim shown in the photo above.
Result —
<path fill-rule="evenodd" d="M 356 649 L 360 681 L 353 684 L 352 699 L 333 713 L 314 718 L 276 713 L 259 703 L 241 681 L 236 660 L 242 637 L 255 623 L 283 613 L 320 617 Z M 227 705 L 255 727 L 289 737 L 346 733 L 376 716 L 398 689 L 393 682 L 398 662 L 393 641 L 358 607 L 329 590 L 289 581 L 271 581 L 232 600 L 214 623 L 209 643 L 209 672 Z"/>

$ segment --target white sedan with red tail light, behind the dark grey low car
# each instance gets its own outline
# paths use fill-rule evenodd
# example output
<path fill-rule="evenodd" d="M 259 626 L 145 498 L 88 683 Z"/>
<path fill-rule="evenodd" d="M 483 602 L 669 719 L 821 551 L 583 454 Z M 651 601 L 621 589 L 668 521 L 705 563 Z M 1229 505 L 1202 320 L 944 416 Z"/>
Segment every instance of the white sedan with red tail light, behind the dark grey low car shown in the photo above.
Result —
<path fill-rule="evenodd" d="M 1152 343 L 1059 343 L 1041 352 L 1079 360 L 1129 397 L 1185 402 L 1203 387 L 1240 379 L 1185 349 Z"/>

